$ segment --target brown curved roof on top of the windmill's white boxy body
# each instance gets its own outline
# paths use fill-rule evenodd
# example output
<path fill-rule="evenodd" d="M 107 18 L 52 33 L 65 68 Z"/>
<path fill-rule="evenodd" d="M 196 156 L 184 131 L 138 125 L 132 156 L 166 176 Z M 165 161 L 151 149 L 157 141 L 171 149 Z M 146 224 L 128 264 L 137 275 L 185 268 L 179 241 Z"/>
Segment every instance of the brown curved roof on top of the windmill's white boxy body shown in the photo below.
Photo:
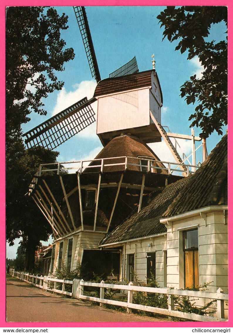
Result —
<path fill-rule="evenodd" d="M 116 78 L 108 78 L 101 80 L 95 89 L 94 97 L 101 96 L 101 95 L 107 95 L 111 93 L 117 93 L 125 90 L 132 90 L 137 88 L 143 88 L 143 87 L 150 87 L 151 86 L 151 73 L 154 72 L 156 74 L 156 78 L 159 82 L 159 78 L 157 73 L 154 69 L 145 71 L 145 72 L 139 72 L 134 73 L 130 75 L 120 76 Z M 161 99 L 163 103 L 163 96 L 162 91 L 159 83 L 160 93 L 161 93 Z"/>

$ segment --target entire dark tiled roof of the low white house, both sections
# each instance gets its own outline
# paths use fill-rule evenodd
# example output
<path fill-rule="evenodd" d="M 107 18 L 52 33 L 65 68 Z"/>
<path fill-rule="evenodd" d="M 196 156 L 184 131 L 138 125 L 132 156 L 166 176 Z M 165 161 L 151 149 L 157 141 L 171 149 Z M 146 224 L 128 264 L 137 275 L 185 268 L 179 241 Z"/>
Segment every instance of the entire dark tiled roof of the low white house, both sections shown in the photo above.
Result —
<path fill-rule="evenodd" d="M 158 188 L 139 213 L 127 218 L 103 240 L 115 243 L 166 232 L 162 217 L 208 205 L 227 204 L 227 135 L 193 174 L 166 187 Z"/>

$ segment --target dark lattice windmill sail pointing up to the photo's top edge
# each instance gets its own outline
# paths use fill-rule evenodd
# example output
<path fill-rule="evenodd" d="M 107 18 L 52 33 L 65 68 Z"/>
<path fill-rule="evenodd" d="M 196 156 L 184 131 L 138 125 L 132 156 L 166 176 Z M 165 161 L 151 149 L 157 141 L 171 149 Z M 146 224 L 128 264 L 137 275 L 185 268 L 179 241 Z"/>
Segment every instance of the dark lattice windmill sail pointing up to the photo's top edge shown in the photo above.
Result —
<path fill-rule="evenodd" d="M 74 13 L 78 22 L 79 30 L 82 36 L 82 41 L 85 47 L 87 60 L 90 66 L 91 75 L 97 83 L 101 80 L 99 74 L 99 68 L 95 56 L 95 50 L 92 43 L 92 38 L 90 34 L 90 29 L 86 17 L 86 11 L 84 7 L 73 7 Z"/>

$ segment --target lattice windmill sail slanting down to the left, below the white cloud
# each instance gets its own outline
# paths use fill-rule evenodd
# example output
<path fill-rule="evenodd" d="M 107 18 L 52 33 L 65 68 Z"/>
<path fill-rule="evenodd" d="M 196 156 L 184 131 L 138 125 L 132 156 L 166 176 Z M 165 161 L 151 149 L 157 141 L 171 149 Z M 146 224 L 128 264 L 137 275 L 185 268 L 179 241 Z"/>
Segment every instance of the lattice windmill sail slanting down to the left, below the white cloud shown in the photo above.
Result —
<path fill-rule="evenodd" d="M 43 146 L 54 149 L 92 124 L 95 113 L 90 104 L 95 101 L 93 97 L 90 100 L 85 97 L 25 133 L 23 136 L 28 148 Z"/>

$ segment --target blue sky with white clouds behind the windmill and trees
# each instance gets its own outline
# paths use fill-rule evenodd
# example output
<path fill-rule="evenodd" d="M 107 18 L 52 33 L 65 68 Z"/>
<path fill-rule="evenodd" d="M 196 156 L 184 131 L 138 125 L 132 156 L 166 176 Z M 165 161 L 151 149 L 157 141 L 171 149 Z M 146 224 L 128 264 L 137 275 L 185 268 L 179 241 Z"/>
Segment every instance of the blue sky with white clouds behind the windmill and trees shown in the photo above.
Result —
<path fill-rule="evenodd" d="M 162 42 L 163 29 L 158 24 L 157 15 L 165 7 L 159 6 L 121 6 L 121 7 L 86 7 L 87 19 L 95 48 L 101 79 L 107 78 L 109 73 L 127 63 L 134 56 L 137 58 L 139 71 L 152 69 L 152 54 L 155 54 L 156 71 L 161 84 L 164 104 L 162 108 L 162 125 L 168 126 L 173 133 L 191 134 L 188 121 L 194 106 L 187 106 L 181 99 L 180 86 L 193 74 L 200 75 L 201 67 L 198 59 L 187 60 L 187 52 L 180 54 L 175 51 L 176 42 L 167 39 Z M 59 80 L 64 81 L 62 91 L 52 93 L 44 100 L 47 116 L 31 114 L 31 121 L 23 125 L 26 132 L 44 122 L 57 112 L 69 107 L 83 97 L 91 98 L 96 86 L 91 77 L 81 35 L 72 7 L 56 7 L 58 14 L 68 15 L 69 28 L 62 32 L 66 47 L 74 49 L 75 58 L 65 64 L 65 70 L 58 72 Z M 216 41 L 226 38 L 224 24 L 211 28 L 209 39 Z M 93 109 L 97 111 L 97 102 Z M 200 129 L 194 128 L 198 136 Z M 57 148 L 60 152 L 58 161 L 77 161 L 94 158 L 102 149 L 96 133 L 96 122 L 78 135 Z M 223 128 L 223 134 L 226 127 Z M 216 133 L 207 139 L 208 153 L 220 141 Z M 181 141 L 183 151 L 191 151 L 190 142 Z M 170 154 L 165 144 L 150 144 L 157 156 L 163 160 L 170 160 Z M 197 162 L 201 161 L 201 149 L 197 153 Z M 17 246 L 7 246 L 7 256 L 14 257 Z"/>

